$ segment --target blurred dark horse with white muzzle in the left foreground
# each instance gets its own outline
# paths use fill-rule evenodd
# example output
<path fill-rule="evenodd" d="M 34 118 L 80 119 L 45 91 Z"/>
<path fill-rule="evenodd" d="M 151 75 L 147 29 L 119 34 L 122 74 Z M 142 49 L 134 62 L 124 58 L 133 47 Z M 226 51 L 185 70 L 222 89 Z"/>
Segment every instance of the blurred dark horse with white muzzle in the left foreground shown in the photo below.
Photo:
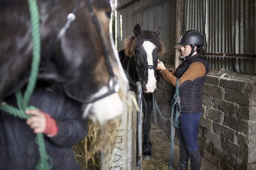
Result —
<path fill-rule="evenodd" d="M 42 44 L 38 79 L 61 83 L 66 94 L 87 103 L 87 111 L 97 113 L 94 117 L 100 122 L 120 114 L 117 90 L 119 86 L 126 94 L 128 81 L 109 33 L 109 0 L 38 0 L 37 4 Z M 71 16 L 75 20 L 67 24 L 70 13 L 75 13 L 75 18 Z M 26 0 L 1 0 L 0 16 L 2 101 L 27 83 L 32 42 Z"/>

